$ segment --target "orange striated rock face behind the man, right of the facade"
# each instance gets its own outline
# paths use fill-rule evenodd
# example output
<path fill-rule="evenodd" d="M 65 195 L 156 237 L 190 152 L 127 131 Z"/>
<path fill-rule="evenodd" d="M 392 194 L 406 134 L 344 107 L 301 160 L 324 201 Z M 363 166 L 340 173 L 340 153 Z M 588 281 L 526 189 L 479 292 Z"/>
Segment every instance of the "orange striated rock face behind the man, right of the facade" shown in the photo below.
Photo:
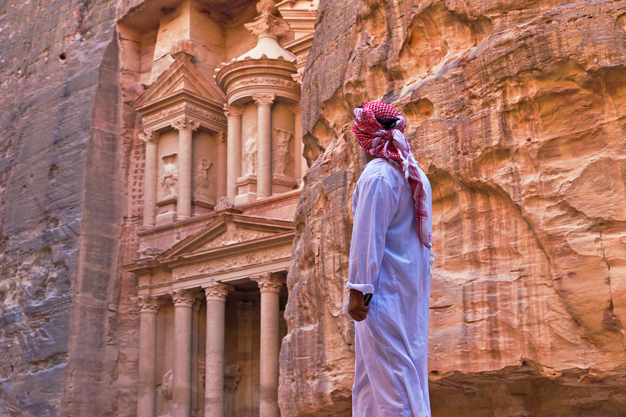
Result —
<path fill-rule="evenodd" d="M 433 416 L 621 416 L 626 1 L 323 1 L 303 85 L 283 416 L 349 416 L 351 109 L 433 185 Z M 468 414 L 468 409 L 472 409 Z"/>

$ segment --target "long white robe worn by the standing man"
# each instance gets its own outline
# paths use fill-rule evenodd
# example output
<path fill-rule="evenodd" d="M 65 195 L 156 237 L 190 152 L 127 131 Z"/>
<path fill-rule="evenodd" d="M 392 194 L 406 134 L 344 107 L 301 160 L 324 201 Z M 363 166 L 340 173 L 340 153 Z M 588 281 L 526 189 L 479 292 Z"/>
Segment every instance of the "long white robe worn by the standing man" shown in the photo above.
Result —
<path fill-rule="evenodd" d="M 419 170 L 428 195 L 431 188 Z M 355 322 L 354 417 L 430 417 L 428 302 L 430 251 L 417 235 L 411 187 L 398 167 L 370 161 L 353 195 L 346 288 L 374 293 Z"/>

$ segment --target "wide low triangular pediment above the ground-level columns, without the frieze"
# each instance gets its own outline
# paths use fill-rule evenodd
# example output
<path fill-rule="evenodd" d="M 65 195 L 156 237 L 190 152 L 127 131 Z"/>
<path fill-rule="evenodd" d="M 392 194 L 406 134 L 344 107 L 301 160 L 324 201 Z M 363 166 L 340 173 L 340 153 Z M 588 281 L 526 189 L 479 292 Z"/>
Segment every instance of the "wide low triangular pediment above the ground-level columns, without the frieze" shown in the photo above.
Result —
<path fill-rule="evenodd" d="M 163 261 L 190 258 L 216 250 L 256 246 L 275 237 L 293 234 L 294 222 L 252 215 L 221 213 L 207 227 L 181 240 L 158 256 Z"/>

